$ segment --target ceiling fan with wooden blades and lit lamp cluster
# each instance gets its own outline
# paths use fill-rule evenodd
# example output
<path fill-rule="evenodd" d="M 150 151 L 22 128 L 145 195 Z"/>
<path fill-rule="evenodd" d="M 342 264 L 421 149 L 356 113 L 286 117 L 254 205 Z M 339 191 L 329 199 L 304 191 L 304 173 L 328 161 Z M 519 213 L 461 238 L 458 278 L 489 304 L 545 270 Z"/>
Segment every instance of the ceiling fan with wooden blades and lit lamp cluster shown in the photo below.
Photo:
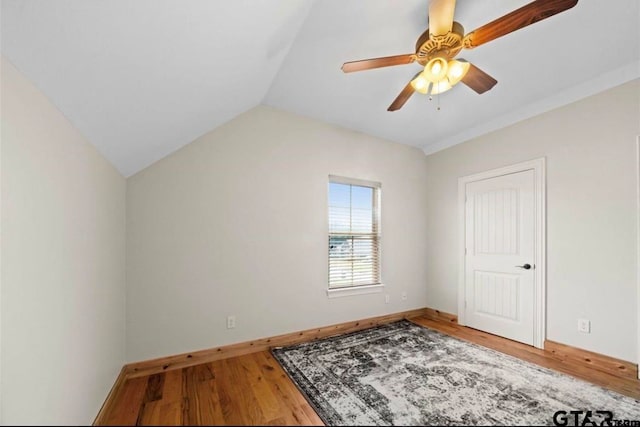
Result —
<path fill-rule="evenodd" d="M 577 3 L 578 0 L 535 0 L 465 35 L 462 25 L 453 20 L 456 1 L 430 0 L 429 28 L 418 37 L 415 53 L 345 62 L 342 71 L 351 73 L 412 62 L 422 65 L 424 69 L 411 79 L 387 111 L 402 108 L 414 92 L 435 95 L 459 82 L 482 94 L 498 81 L 462 58 L 453 59 L 463 48 L 473 49 L 571 9 Z"/>

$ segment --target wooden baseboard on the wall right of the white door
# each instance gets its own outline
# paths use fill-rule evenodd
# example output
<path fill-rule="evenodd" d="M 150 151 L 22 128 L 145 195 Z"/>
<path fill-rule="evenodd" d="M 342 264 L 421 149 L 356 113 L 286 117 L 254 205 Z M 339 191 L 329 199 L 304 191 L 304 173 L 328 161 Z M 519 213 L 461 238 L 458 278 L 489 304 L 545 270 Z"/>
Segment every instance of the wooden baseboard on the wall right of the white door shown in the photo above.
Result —
<path fill-rule="evenodd" d="M 638 365 L 593 351 L 546 340 L 544 349 L 561 360 L 567 360 L 620 378 L 638 379 Z"/>

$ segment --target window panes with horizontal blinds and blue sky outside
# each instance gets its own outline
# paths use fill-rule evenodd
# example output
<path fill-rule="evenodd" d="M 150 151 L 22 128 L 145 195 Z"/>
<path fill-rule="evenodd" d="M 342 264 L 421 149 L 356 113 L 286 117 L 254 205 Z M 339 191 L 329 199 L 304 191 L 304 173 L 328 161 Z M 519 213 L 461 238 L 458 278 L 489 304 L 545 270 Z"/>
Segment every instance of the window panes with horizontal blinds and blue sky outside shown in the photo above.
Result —
<path fill-rule="evenodd" d="M 329 289 L 380 284 L 380 184 L 329 177 Z"/>

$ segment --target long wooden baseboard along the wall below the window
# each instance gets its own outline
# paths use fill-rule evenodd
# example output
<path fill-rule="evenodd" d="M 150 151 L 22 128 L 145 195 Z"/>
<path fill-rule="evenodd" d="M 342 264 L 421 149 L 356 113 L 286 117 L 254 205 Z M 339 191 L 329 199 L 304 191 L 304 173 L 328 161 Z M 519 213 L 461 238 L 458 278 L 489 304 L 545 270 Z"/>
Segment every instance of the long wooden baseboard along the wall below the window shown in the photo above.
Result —
<path fill-rule="evenodd" d="M 402 311 L 399 313 L 376 316 L 368 319 L 352 322 L 339 323 L 331 326 L 307 329 L 304 331 L 292 332 L 269 338 L 260 338 L 253 341 L 246 341 L 237 344 L 230 344 L 215 347 L 207 350 L 199 350 L 191 353 L 183 353 L 174 356 L 161 357 L 158 359 L 145 360 L 125 365 L 127 378 L 136 378 L 146 375 L 153 375 L 167 372 L 173 369 L 182 369 L 201 363 L 213 362 L 228 357 L 242 356 L 249 353 L 268 350 L 272 347 L 299 344 L 326 338 L 332 335 L 355 332 L 385 323 L 395 322 L 401 319 L 409 319 L 418 316 L 429 316 L 430 309 L 420 308 L 415 310 Z M 435 310 L 432 310 L 435 311 Z"/>

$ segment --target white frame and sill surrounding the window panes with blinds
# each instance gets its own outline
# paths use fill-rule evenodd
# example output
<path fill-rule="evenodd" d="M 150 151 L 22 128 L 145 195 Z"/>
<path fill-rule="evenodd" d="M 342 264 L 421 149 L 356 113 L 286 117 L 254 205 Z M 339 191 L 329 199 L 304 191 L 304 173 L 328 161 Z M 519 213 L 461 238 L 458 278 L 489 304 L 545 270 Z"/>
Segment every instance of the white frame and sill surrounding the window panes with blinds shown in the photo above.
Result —
<path fill-rule="evenodd" d="M 348 295 L 360 295 L 360 294 L 369 294 L 369 293 L 378 293 L 382 292 L 384 288 L 384 284 L 382 282 L 382 215 L 381 215 L 381 207 L 382 207 L 382 184 L 376 181 L 368 181 L 363 179 L 356 178 L 348 178 L 344 176 L 337 175 L 329 175 L 329 180 L 327 183 L 327 221 L 330 221 L 330 200 L 329 200 L 329 191 L 331 184 L 343 184 L 343 185 L 351 185 L 357 187 L 366 187 L 373 189 L 373 224 L 375 233 L 371 233 L 375 236 L 376 246 L 377 246 L 377 282 L 369 283 L 369 284 L 358 284 L 358 285 L 350 285 L 344 287 L 331 287 L 329 273 L 331 271 L 331 260 L 329 258 L 330 251 L 330 241 L 332 237 L 331 225 L 327 224 L 327 296 L 329 298 L 340 297 L 340 296 L 348 296 Z M 350 234 L 350 233 L 340 233 L 340 234 Z"/>

